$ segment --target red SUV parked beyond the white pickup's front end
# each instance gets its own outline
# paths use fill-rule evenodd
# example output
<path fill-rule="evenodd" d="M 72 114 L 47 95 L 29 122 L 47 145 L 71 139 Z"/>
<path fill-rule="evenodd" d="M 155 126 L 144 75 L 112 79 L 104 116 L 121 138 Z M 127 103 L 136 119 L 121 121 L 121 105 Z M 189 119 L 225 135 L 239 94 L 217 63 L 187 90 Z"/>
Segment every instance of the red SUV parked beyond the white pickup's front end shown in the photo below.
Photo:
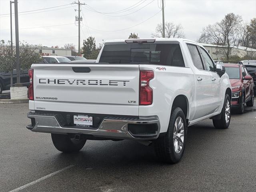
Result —
<path fill-rule="evenodd" d="M 222 64 L 226 68 L 232 86 L 232 109 L 244 113 L 244 104 L 252 107 L 254 104 L 254 82 L 242 63 Z"/>

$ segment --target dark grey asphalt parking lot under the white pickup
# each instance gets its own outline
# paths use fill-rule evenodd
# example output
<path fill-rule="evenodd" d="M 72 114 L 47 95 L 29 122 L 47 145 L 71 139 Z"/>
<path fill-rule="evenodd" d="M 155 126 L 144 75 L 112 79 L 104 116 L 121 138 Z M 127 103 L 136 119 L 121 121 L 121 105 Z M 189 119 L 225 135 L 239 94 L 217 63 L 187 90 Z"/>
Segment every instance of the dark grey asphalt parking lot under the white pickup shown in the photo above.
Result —
<path fill-rule="evenodd" d="M 0 104 L 0 191 L 254 192 L 256 107 L 245 110 L 227 130 L 211 120 L 189 127 L 185 154 L 170 165 L 128 140 L 87 141 L 79 153 L 63 154 L 50 134 L 26 129 L 28 104 Z"/>

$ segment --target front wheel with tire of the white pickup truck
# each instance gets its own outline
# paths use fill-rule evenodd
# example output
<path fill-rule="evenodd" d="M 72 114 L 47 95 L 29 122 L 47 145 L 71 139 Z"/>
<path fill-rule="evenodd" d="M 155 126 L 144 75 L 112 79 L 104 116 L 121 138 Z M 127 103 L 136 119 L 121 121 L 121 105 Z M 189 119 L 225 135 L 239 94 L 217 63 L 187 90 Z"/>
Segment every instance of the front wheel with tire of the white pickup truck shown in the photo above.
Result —
<path fill-rule="evenodd" d="M 229 112 L 226 110 L 228 102 L 229 106 Z M 226 120 L 226 113 L 229 116 L 228 120 Z M 213 125 L 216 129 L 227 129 L 229 124 L 230 124 L 230 119 L 231 119 L 231 101 L 230 101 L 230 96 L 228 94 L 225 95 L 225 100 L 224 100 L 224 105 L 221 110 L 221 118 L 220 119 L 213 119 Z"/>

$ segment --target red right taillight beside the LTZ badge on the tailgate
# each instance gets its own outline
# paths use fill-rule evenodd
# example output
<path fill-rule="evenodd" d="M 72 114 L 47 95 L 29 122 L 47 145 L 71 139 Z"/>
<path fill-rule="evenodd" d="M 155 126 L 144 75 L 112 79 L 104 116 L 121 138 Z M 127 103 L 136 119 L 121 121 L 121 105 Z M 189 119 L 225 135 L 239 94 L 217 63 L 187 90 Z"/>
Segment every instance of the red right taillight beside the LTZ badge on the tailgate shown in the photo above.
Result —
<path fill-rule="evenodd" d="M 140 71 L 140 105 L 151 105 L 153 102 L 153 90 L 149 81 L 154 78 L 154 71 Z"/>

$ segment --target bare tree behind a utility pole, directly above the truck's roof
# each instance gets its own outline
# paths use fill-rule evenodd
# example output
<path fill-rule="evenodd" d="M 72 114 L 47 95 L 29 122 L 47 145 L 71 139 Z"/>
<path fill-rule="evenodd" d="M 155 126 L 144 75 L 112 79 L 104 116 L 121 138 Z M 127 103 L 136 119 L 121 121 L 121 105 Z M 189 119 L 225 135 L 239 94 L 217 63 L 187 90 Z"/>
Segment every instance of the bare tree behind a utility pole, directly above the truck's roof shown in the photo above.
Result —
<path fill-rule="evenodd" d="M 151 34 L 152 37 L 163 37 L 163 25 L 157 24 L 155 33 Z M 181 24 L 174 24 L 172 22 L 165 22 L 165 37 L 166 38 L 185 38 L 183 27 Z"/>

